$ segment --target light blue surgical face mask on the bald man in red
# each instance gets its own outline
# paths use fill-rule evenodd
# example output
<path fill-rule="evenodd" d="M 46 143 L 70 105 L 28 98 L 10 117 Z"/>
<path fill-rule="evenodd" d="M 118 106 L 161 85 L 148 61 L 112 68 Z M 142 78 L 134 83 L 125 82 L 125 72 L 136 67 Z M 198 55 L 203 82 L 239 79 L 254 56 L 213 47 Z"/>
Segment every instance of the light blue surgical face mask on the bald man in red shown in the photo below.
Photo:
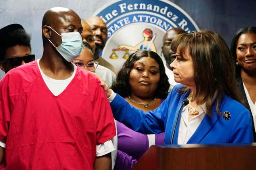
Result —
<path fill-rule="evenodd" d="M 50 26 L 48 27 L 51 28 Z M 52 30 L 56 32 L 54 29 Z M 58 32 L 56 32 L 56 34 L 58 34 Z M 62 43 L 58 47 L 56 47 L 49 39 L 48 40 L 65 60 L 71 62 L 79 56 L 83 49 L 81 34 L 79 32 L 67 32 L 58 35 L 62 37 Z"/>

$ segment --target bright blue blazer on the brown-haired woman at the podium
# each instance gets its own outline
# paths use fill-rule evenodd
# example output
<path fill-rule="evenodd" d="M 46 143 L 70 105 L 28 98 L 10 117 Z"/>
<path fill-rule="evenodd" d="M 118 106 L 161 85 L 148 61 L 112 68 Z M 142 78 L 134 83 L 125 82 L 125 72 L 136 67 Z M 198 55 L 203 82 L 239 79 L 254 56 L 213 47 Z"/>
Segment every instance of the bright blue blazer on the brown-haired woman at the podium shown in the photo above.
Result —
<path fill-rule="evenodd" d="M 183 85 L 173 87 L 171 93 L 158 108 L 146 113 L 134 108 L 117 94 L 110 103 L 114 117 L 127 127 L 143 134 L 158 134 L 165 131 L 165 143 L 170 144 L 177 112 L 182 101 L 189 95 L 189 91 L 180 94 L 175 90 L 181 87 Z M 252 118 L 250 112 L 242 104 L 224 94 L 219 110 L 221 113 L 229 111 L 231 118 L 225 120 L 218 115 L 215 100 L 212 104 L 212 116 L 205 115 L 187 144 L 253 142 Z M 180 119 L 181 114 L 179 114 L 173 144 L 177 144 Z"/>

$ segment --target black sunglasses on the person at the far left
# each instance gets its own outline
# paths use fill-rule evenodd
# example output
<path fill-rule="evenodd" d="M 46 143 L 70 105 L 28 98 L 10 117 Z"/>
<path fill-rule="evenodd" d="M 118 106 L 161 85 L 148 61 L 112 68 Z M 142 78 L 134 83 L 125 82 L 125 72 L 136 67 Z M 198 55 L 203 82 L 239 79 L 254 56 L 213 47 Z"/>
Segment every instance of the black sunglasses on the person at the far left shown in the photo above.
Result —
<path fill-rule="evenodd" d="M 24 61 L 25 63 L 28 63 L 28 62 L 31 62 L 31 61 L 34 61 L 34 60 L 35 60 L 35 55 L 34 54 L 29 54 L 29 55 L 25 55 L 25 56 L 22 56 L 22 57 L 15 56 L 15 57 L 12 57 L 12 58 L 8 58 L 8 59 L 5 59 L 5 60 L 2 60 L 2 62 L 4 64 L 9 63 L 14 68 L 14 67 L 20 66 L 22 61 Z"/>

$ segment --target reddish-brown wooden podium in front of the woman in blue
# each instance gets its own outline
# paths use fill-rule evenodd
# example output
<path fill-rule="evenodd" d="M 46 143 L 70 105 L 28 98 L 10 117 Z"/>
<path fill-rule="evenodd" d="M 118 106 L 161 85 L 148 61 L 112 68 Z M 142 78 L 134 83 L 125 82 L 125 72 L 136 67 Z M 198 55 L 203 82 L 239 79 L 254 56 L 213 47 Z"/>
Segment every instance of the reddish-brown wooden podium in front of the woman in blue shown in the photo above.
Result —
<path fill-rule="evenodd" d="M 256 143 L 152 145 L 132 170 L 256 170 Z"/>

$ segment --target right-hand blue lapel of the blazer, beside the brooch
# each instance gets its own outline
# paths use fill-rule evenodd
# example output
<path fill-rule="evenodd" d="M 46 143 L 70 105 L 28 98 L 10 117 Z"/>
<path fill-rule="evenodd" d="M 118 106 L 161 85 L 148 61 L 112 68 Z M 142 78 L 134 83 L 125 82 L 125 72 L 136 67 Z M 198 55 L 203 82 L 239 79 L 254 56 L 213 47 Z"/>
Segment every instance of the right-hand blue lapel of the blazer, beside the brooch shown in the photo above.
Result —
<path fill-rule="evenodd" d="M 227 99 L 227 96 L 223 96 L 222 102 L 219 107 L 220 112 L 226 102 L 226 99 Z M 204 119 L 202 120 L 202 122 L 200 123 L 200 125 L 198 126 L 198 128 L 196 129 L 194 134 L 191 136 L 191 138 L 189 139 L 187 144 L 199 144 L 202 141 L 202 139 L 204 138 L 204 136 L 206 136 L 206 134 L 208 134 L 208 132 L 211 130 L 211 128 L 218 121 L 220 116 L 218 115 L 218 113 L 216 111 L 216 104 L 217 104 L 217 102 L 215 100 L 213 103 L 213 106 L 212 106 L 212 115 L 213 116 L 209 116 L 208 114 L 206 114 L 204 116 Z"/>

